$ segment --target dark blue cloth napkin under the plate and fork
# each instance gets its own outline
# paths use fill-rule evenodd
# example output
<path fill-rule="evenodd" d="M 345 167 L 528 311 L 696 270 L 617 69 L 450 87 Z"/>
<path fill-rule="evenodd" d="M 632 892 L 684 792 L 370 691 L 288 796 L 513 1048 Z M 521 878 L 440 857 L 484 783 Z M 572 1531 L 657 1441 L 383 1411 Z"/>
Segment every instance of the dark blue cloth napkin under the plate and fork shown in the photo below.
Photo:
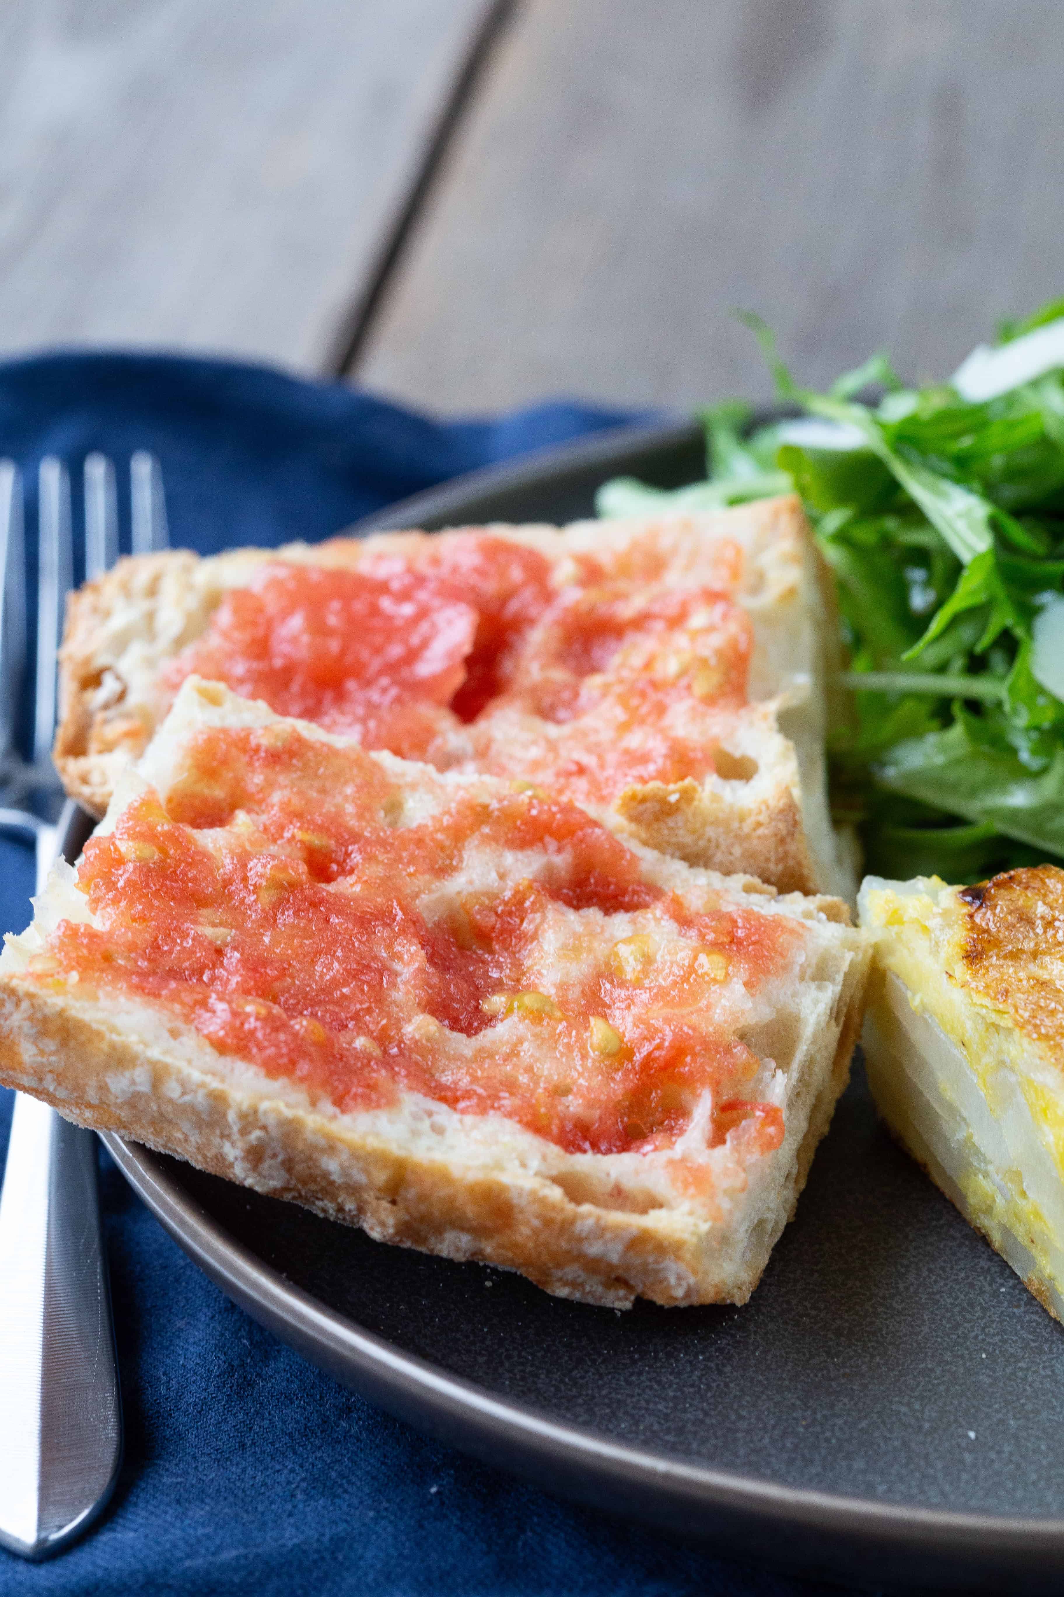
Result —
<path fill-rule="evenodd" d="M 222 361 L 49 355 L 0 364 L 0 455 L 153 450 L 171 541 L 322 538 L 445 478 L 630 420 L 546 404 L 440 423 L 341 383 Z M 120 493 L 128 487 L 121 482 Z M 123 527 L 128 503 L 123 501 Z M 32 551 L 30 551 L 32 553 Z M 0 843 L 0 920 L 29 917 L 29 850 Z M 11 1094 L 0 1092 L 0 1150 Z M 126 1417 L 104 1524 L 46 1565 L 0 1549 L 0 1597 L 798 1597 L 822 1587 L 558 1501 L 426 1440 L 260 1330 L 102 1167 Z M 0 1292 L 3 1284 L 0 1282 Z M 0 1437 L 0 1447 L 3 1439 Z"/>

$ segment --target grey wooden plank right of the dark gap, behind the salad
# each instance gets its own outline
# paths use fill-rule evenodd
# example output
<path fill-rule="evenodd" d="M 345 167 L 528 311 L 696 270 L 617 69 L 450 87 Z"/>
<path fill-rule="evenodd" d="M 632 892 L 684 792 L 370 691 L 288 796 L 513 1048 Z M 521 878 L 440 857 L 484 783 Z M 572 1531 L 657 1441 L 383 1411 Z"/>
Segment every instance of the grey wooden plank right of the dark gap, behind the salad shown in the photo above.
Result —
<path fill-rule="evenodd" d="M 689 404 L 877 347 L 944 375 L 1064 292 L 1058 0 L 526 0 L 361 380 Z"/>

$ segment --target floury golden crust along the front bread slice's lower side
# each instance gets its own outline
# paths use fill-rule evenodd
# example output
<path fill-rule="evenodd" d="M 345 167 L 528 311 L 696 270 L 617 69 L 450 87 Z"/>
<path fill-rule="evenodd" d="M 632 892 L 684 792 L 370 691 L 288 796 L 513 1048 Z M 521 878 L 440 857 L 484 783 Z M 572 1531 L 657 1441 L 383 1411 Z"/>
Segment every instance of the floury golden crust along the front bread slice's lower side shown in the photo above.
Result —
<path fill-rule="evenodd" d="M 715 1258 L 713 1226 L 689 1211 L 648 1214 L 574 1203 L 555 1180 L 461 1169 L 365 1135 L 281 1097 L 238 1092 L 174 1054 L 145 1048 L 33 982 L 0 982 L 0 1083 L 45 1099 L 67 1119 L 116 1131 L 228 1180 L 286 1198 L 375 1241 L 517 1270 L 557 1297 L 629 1308 L 745 1303 L 790 1222 L 814 1153 L 849 1080 L 861 1022 L 863 969 L 849 973 L 845 1012 L 794 1167 L 737 1271 Z"/>

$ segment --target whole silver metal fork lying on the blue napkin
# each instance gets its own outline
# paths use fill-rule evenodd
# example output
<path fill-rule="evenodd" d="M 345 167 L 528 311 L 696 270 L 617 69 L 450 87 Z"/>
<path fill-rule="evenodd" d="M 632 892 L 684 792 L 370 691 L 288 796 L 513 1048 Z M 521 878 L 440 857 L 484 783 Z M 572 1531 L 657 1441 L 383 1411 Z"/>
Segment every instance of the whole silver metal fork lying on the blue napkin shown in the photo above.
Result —
<path fill-rule="evenodd" d="M 129 462 L 132 553 L 167 546 L 158 462 Z M 30 837 L 41 893 L 73 805 L 51 763 L 56 655 L 73 586 L 70 481 L 49 457 L 38 478 L 37 682 L 33 755 L 19 759 L 16 715 L 26 674 L 22 482 L 0 462 L 0 827 Z M 115 470 L 85 462 L 85 572 L 118 556 Z M 61 813 L 62 810 L 62 813 Z M 45 1559 L 105 1506 L 121 1463 L 121 1401 L 107 1286 L 96 1137 L 37 1099 L 14 1100 L 0 1193 L 0 1544 Z"/>

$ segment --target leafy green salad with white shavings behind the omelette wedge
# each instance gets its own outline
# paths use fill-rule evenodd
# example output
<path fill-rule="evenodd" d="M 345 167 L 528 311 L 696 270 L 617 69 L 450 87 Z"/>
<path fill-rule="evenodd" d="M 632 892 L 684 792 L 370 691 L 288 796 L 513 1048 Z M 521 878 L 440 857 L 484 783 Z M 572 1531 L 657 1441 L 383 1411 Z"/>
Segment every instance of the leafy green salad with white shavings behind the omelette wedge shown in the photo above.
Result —
<path fill-rule="evenodd" d="M 836 822 L 865 869 L 973 882 L 1064 864 L 1064 300 L 1005 324 L 943 383 L 884 356 L 799 388 L 793 415 L 702 412 L 705 482 L 614 479 L 600 516 L 798 492 L 834 572 L 852 695 L 830 735 Z"/>

